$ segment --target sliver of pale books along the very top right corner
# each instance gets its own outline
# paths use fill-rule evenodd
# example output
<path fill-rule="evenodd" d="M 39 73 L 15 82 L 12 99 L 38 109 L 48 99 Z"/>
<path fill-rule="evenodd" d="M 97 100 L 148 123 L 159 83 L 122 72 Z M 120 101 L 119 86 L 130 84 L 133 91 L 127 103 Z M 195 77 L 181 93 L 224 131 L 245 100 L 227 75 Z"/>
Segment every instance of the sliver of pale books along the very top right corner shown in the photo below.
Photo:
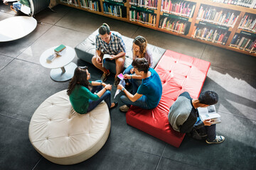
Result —
<path fill-rule="evenodd" d="M 256 8 L 256 0 L 211 0 L 223 4 L 231 4 L 237 6 L 245 6 L 248 8 Z"/>

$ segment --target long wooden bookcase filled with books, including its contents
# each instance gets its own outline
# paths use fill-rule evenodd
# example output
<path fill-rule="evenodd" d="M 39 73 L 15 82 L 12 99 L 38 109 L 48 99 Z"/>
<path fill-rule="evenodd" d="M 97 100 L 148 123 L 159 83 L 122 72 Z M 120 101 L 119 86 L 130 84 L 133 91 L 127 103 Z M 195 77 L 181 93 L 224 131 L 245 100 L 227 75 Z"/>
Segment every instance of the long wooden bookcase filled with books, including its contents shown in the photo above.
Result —
<path fill-rule="evenodd" d="M 256 0 L 60 0 L 60 4 L 256 57 Z"/>

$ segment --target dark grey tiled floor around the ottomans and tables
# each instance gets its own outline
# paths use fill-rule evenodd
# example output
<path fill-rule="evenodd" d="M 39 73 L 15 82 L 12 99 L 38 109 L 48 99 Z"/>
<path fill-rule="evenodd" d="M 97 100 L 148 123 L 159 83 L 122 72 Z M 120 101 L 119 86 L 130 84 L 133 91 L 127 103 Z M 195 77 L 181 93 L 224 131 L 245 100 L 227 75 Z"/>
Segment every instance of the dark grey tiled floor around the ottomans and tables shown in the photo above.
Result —
<path fill-rule="evenodd" d="M 30 35 L 0 42 L 0 169 L 255 169 L 256 57 L 67 6 L 54 9 L 36 14 L 38 26 Z M 0 4 L 0 21 L 14 14 Z M 50 69 L 39 64 L 39 57 L 55 45 L 75 47 L 104 22 L 130 38 L 143 35 L 150 44 L 211 62 L 203 91 L 219 94 L 216 108 L 222 123 L 217 133 L 225 136 L 225 142 L 207 145 L 186 136 L 176 148 L 127 125 L 125 113 L 115 108 L 110 111 L 106 144 L 85 162 L 61 166 L 38 154 L 28 139 L 31 116 L 46 98 L 68 87 L 68 81 L 50 79 Z M 91 64 L 78 57 L 73 62 L 89 66 L 92 80 L 100 79 L 101 73 Z M 107 82 L 113 81 L 112 75 Z"/>

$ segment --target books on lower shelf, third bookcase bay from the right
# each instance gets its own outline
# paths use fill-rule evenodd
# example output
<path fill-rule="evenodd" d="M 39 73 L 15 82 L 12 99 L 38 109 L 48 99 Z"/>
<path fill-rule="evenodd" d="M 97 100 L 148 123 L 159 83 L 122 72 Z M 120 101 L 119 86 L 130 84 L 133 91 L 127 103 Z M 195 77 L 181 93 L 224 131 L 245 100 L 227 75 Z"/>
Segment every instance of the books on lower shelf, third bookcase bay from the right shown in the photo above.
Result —
<path fill-rule="evenodd" d="M 188 26 L 188 22 L 181 21 L 174 18 L 162 17 L 159 22 L 159 28 L 171 30 L 174 33 L 186 34 L 185 30 Z"/>

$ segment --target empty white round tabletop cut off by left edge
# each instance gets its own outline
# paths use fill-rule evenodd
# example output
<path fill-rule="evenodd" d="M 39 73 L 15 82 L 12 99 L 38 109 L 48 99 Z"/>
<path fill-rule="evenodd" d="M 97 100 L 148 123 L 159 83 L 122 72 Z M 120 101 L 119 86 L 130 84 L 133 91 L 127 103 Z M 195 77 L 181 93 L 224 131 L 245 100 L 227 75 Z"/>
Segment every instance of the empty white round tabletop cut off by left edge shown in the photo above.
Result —
<path fill-rule="evenodd" d="M 37 21 L 29 16 L 14 16 L 0 21 L 0 42 L 23 38 L 37 26 Z"/>

